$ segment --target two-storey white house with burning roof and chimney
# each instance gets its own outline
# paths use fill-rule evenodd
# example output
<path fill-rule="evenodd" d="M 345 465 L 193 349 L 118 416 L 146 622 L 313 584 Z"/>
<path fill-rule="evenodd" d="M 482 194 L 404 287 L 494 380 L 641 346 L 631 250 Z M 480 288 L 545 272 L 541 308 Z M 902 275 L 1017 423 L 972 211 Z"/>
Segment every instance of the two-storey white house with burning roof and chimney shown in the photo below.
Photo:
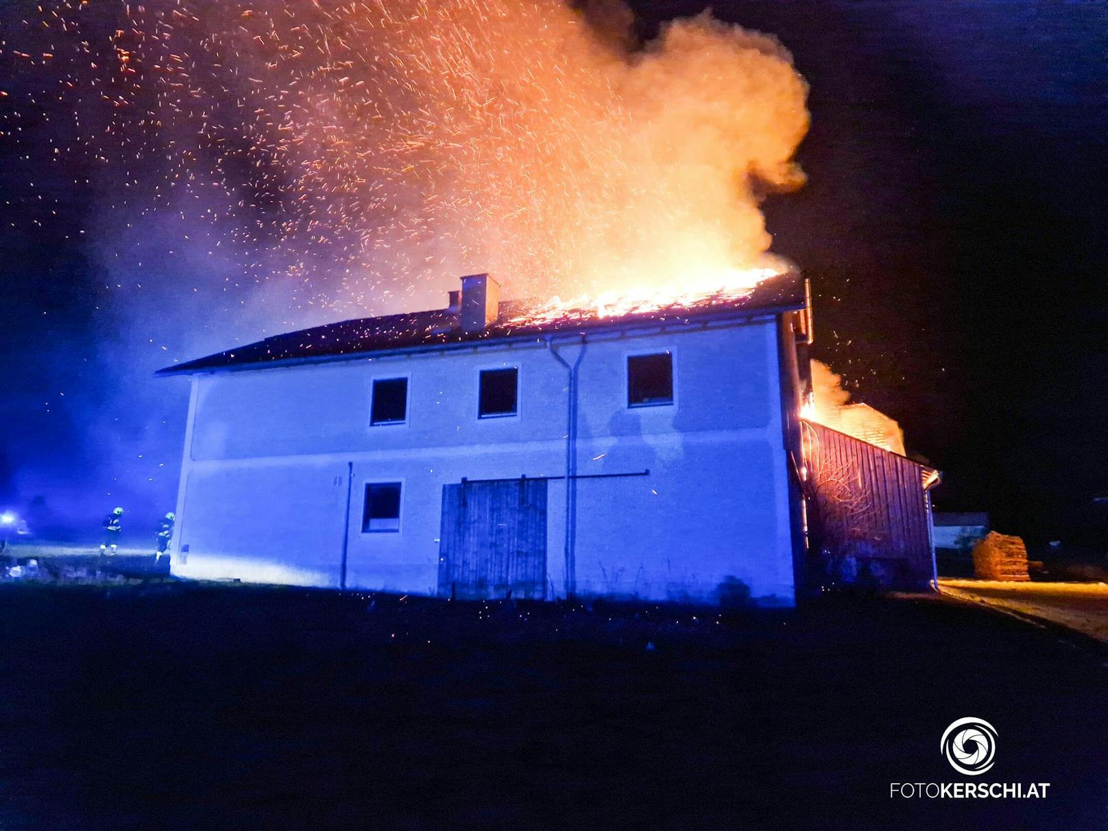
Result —
<path fill-rule="evenodd" d="M 603 308 L 501 301 L 474 275 L 447 308 L 164 369 L 193 384 L 173 571 L 791 605 L 810 334 L 794 273 Z"/>

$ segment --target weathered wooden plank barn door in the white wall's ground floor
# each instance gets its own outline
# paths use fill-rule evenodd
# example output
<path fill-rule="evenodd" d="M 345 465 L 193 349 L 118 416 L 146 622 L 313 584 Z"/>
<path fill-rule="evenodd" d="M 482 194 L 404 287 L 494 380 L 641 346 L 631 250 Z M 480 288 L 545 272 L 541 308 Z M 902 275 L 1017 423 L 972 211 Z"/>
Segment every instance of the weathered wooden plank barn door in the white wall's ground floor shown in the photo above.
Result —
<path fill-rule="evenodd" d="M 439 594 L 546 596 L 546 480 L 442 488 Z"/>

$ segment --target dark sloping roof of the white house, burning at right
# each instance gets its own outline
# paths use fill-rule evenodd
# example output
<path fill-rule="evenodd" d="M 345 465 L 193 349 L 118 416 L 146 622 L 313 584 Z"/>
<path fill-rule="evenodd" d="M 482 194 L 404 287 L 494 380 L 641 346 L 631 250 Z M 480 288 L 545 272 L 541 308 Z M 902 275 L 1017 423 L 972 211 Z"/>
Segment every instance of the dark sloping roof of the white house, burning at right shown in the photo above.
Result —
<path fill-rule="evenodd" d="M 598 329 L 643 324 L 695 324 L 711 317 L 747 317 L 804 308 L 804 284 L 798 273 L 782 274 L 745 295 L 712 295 L 688 304 L 619 317 L 601 317 L 592 309 L 573 309 L 557 317 L 544 314 L 542 304 L 511 300 L 500 304 L 500 317 L 481 331 L 458 327 L 458 314 L 431 309 L 402 315 L 361 318 L 275 335 L 256 343 L 176 363 L 158 376 L 260 369 L 266 365 L 340 360 L 375 352 L 433 349 L 451 345 L 533 338 L 550 334 L 586 334 Z M 532 312 L 534 316 L 532 316 Z"/>

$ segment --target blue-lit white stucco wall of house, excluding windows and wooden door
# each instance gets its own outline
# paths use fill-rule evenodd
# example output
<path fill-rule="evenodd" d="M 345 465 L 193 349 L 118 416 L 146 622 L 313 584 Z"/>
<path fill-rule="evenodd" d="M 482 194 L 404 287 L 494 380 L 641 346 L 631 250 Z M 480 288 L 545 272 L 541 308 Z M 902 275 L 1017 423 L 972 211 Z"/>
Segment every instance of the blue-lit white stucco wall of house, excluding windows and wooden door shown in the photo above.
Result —
<path fill-rule="evenodd" d="M 579 345 L 556 339 L 571 363 Z M 627 357 L 669 350 L 675 402 L 627 407 Z M 478 419 L 478 375 L 519 367 L 519 414 Z M 409 378 L 408 421 L 370 425 L 375 378 Z M 434 593 L 442 486 L 565 472 L 566 371 L 543 341 L 222 372 L 194 381 L 173 571 Z M 716 597 L 740 579 L 792 603 L 776 322 L 591 336 L 579 365 L 579 594 Z M 352 464 L 345 525 L 348 465 Z M 362 533 L 367 482 L 402 482 L 399 533 Z M 565 586 L 565 483 L 547 572 Z M 187 553 L 181 551 L 187 546 Z"/>

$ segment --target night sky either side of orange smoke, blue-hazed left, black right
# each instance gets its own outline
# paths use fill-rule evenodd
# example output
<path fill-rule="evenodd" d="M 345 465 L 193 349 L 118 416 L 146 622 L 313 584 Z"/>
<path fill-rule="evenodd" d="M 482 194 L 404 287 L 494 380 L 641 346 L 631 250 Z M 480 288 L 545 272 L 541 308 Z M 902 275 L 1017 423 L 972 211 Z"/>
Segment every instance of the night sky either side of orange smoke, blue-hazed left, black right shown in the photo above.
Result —
<path fill-rule="evenodd" d="M 632 4 L 643 37 L 704 8 Z M 28 107 L 43 75 L 12 57 L 34 7 L 0 11 L 0 504 L 55 535 L 88 535 L 115 504 L 153 526 L 187 403 L 186 381 L 153 370 L 335 315 L 117 226 L 107 205 L 144 198 L 144 163 L 54 160 L 68 122 L 45 96 Z M 712 8 L 776 34 L 811 84 L 808 184 L 766 213 L 812 280 L 815 357 L 943 471 L 936 509 L 1108 545 L 1090 504 L 1108 490 L 1104 3 Z"/>

